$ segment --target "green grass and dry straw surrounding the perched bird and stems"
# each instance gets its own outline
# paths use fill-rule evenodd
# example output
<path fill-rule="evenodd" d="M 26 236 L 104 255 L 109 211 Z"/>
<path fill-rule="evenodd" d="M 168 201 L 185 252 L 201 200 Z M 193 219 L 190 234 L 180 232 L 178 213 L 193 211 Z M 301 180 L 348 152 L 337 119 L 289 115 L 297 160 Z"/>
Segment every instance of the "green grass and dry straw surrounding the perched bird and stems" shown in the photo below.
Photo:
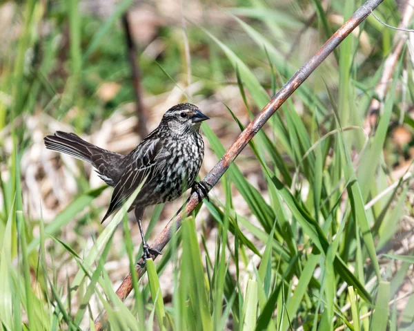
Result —
<path fill-rule="evenodd" d="M 63 130 L 128 153 L 139 128 L 193 102 L 211 118 L 203 178 L 362 2 L 3 1 L 3 330 L 93 330 L 102 310 L 110 330 L 413 330 L 408 32 L 368 17 L 239 155 L 124 303 L 115 290 L 141 256 L 133 216 L 121 210 L 102 226 L 110 189 L 88 164 L 43 146 Z M 410 6 L 386 0 L 375 15 L 412 28 Z M 146 210 L 149 242 L 186 196 Z"/>

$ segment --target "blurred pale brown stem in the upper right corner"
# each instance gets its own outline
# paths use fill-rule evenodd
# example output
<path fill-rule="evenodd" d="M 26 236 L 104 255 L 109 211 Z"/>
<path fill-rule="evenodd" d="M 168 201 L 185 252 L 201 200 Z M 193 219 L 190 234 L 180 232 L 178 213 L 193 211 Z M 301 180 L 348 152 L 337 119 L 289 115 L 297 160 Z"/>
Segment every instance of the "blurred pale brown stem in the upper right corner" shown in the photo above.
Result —
<path fill-rule="evenodd" d="M 397 65 L 398 59 L 400 58 L 402 48 L 404 48 L 404 44 L 407 39 L 407 32 L 405 30 L 411 23 L 411 19 L 414 15 L 414 0 L 408 0 L 406 2 L 406 6 L 403 12 L 404 16 L 402 17 L 400 25 L 398 26 L 399 30 L 397 33 L 395 33 L 393 40 L 393 44 L 395 44 L 394 51 L 386 58 L 381 79 L 378 82 L 377 87 L 375 87 L 375 94 L 378 96 L 380 101 L 373 98 L 373 100 L 371 100 L 371 104 L 369 105 L 368 113 L 366 114 L 364 130 L 368 133 L 368 135 L 371 134 L 375 123 L 377 122 L 381 103 L 385 97 L 386 88 L 388 86 L 388 83 L 391 82 L 391 76 L 393 75 L 394 68 Z"/>

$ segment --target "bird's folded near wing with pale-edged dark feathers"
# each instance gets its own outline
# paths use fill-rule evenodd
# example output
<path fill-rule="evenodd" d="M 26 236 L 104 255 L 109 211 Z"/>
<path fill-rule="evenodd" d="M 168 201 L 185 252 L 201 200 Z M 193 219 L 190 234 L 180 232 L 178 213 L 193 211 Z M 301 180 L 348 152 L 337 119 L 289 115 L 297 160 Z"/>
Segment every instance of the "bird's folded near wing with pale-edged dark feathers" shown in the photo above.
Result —
<path fill-rule="evenodd" d="M 157 175 L 170 157 L 170 153 L 159 138 L 152 138 L 143 140 L 128 157 L 130 162 L 115 185 L 108 211 L 102 222 L 126 202 L 145 178 L 147 178 L 146 182 L 149 182 Z"/>

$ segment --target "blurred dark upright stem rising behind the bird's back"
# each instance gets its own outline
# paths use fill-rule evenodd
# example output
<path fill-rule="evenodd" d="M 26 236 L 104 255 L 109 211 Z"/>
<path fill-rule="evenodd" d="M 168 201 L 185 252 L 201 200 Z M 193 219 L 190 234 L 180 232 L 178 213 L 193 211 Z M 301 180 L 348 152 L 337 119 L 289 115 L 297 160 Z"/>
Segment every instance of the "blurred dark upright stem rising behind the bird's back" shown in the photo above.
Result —
<path fill-rule="evenodd" d="M 141 72 L 137 62 L 137 47 L 135 46 L 134 39 L 132 37 L 130 23 L 128 21 L 128 12 L 122 15 L 122 26 L 124 27 L 126 45 L 128 46 L 128 60 L 130 62 L 132 84 L 134 86 L 135 93 L 135 109 L 138 117 L 138 133 L 141 139 L 144 139 L 148 135 L 148 116 L 144 108 L 144 102 L 142 101 L 142 88 L 141 88 Z"/>

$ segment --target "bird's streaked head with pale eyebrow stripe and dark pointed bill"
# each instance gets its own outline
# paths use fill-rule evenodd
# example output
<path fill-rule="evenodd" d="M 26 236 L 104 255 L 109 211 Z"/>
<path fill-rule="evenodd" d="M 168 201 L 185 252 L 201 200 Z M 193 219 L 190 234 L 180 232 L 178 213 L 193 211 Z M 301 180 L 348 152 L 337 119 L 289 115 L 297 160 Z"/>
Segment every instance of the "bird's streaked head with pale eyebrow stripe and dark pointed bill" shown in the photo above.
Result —
<path fill-rule="evenodd" d="M 166 111 L 161 124 L 167 124 L 171 131 L 183 134 L 190 130 L 198 131 L 201 122 L 208 118 L 194 104 L 177 104 Z"/>

